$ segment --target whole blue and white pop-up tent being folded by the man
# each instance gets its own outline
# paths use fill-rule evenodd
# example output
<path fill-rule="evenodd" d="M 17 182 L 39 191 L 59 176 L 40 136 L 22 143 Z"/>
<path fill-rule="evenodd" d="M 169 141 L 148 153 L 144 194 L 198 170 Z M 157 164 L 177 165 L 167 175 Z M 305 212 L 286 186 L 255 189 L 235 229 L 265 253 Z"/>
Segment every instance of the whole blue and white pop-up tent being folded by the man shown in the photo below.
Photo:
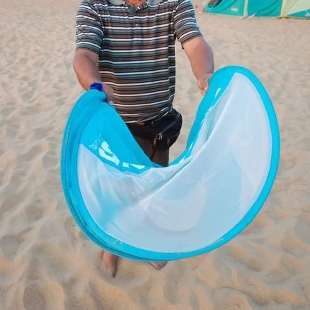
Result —
<path fill-rule="evenodd" d="M 64 130 L 62 188 L 99 247 L 176 260 L 218 248 L 248 226 L 271 191 L 279 150 L 272 102 L 243 67 L 213 75 L 184 152 L 168 167 L 152 163 L 105 94 L 90 90 Z"/>

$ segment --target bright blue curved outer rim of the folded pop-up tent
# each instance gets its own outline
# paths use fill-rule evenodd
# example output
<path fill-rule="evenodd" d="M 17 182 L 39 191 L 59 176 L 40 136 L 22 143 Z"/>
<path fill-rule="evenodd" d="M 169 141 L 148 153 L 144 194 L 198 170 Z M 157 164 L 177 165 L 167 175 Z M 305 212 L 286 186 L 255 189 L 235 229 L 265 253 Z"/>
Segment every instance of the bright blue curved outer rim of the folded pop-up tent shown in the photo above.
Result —
<path fill-rule="evenodd" d="M 213 244 L 200 248 L 190 252 L 182 252 L 182 253 L 175 253 L 175 252 L 164 252 L 158 253 L 150 250 L 145 250 L 141 248 L 133 247 L 129 244 L 123 243 L 108 234 L 104 233 L 97 224 L 93 221 L 92 228 L 88 227 L 86 224 L 85 219 L 80 216 L 80 212 L 78 209 L 86 209 L 85 203 L 83 201 L 81 192 L 78 186 L 78 171 L 77 171 L 77 160 L 78 160 L 78 147 L 79 143 L 75 145 L 70 145 L 72 148 L 68 150 L 68 143 L 72 142 L 72 135 L 75 134 L 73 137 L 75 141 L 79 141 L 81 136 L 81 132 L 83 128 L 79 126 L 79 132 L 72 133 L 71 127 L 72 123 L 74 122 L 74 118 L 76 116 L 75 108 L 78 104 L 73 107 L 71 113 L 68 117 L 64 134 L 62 140 L 62 149 L 61 149 L 61 183 L 62 183 L 62 190 L 65 201 L 67 206 L 70 210 L 70 213 L 78 224 L 81 231 L 95 243 L 99 248 L 104 250 L 108 250 L 109 252 L 122 256 L 124 258 L 138 260 L 138 261 L 174 261 L 179 259 L 190 258 L 193 256 L 202 255 L 204 253 L 210 252 L 226 243 L 231 241 L 234 237 L 236 237 L 239 233 L 241 233 L 248 225 L 252 222 L 252 220 L 256 217 L 256 215 L 260 212 L 265 203 L 266 199 L 268 198 L 274 181 L 277 176 L 278 168 L 279 168 L 279 157 L 280 157 L 280 133 L 279 133 L 279 124 L 276 116 L 275 109 L 273 107 L 272 101 L 266 92 L 263 84 L 261 81 L 247 68 L 242 66 L 226 66 L 218 69 L 212 79 L 210 80 L 210 92 L 212 92 L 212 85 L 213 82 L 219 79 L 222 79 L 223 76 L 232 76 L 234 73 L 240 73 L 246 76 L 256 87 L 258 92 L 260 93 L 263 104 L 266 109 L 266 113 L 269 119 L 270 129 L 271 129 L 271 137 L 272 137 L 272 151 L 271 151 L 271 161 L 270 161 L 270 169 L 263 186 L 263 189 L 257 198 L 257 200 L 253 203 L 252 207 L 249 209 L 248 213 L 243 217 L 229 232 L 225 233 L 221 238 L 215 241 Z M 96 91 L 95 91 L 96 92 Z M 99 93 L 99 92 L 98 92 Z M 209 92 L 208 92 L 209 93 Z M 207 95 L 208 95 L 207 93 Z M 207 96 L 206 95 L 206 96 Z M 98 94 L 100 100 L 104 101 L 105 95 Z M 203 101 L 203 99 L 202 99 Z M 92 113 L 96 109 L 99 108 L 100 104 L 94 103 L 91 108 L 88 110 L 88 118 L 91 117 Z M 211 108 L 211 105 L 210 107 Z M 86 116 L 86 115 L 85 115 Z M 83 120 L 83 124 L 87 124 L 87 117 Z M 72 169 L 73 167 L 73 169 Z M 73 188 L 73 194 L 72 194 Z M 78 206 L 78 207 L 77 207 Z M 88 215 L 90 217 L 90 215 Z M 90 218 L 88 218 L 89 220 Z M 100 236 L 98 236 L 94 231 L 98 232 Z M 99 233 L 100 232 L 100 233 Z"/>

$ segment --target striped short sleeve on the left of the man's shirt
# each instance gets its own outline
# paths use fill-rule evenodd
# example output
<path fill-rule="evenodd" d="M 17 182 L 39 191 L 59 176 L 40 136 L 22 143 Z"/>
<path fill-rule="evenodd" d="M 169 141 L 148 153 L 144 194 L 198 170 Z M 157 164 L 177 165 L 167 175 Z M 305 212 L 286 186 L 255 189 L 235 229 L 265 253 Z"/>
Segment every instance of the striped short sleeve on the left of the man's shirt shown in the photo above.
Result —
<path fill-rule="evenodd" d="M 76 16 L 76 49 L 87 48 L 99 54 L 104 32 L 92 0 L 83 0 Z"/>

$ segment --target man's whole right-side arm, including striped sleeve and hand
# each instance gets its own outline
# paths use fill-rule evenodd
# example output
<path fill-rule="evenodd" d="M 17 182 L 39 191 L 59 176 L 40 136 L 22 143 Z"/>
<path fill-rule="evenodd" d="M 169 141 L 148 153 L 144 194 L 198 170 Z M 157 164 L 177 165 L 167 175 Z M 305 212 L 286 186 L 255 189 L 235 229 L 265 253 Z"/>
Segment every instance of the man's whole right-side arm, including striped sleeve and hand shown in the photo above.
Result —
<path fill-rule="evenodd" d="M 199 88 L 206 91 L 207 80 L 214 72 L 213 51 L 202 36 L 190 0 L 179 0 L 173 17 L 173 27 L 190 61 Z"/>

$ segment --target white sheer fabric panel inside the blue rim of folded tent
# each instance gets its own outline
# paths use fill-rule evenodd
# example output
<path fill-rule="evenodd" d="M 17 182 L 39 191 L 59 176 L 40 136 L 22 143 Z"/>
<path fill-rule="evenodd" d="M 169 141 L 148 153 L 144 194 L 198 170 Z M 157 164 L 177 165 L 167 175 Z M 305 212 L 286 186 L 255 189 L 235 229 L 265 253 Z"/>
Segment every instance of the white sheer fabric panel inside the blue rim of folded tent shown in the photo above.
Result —
<path fill-rule="evenodd" d="M 78 180 L 88 211 L 107 234 L 146 250 L 186 252 L 212 244 L 245 216 L 262 190 L 270 157 L 261 96 L 235 74 L 189 158 L 124 173 L 81 145 Z"/>

